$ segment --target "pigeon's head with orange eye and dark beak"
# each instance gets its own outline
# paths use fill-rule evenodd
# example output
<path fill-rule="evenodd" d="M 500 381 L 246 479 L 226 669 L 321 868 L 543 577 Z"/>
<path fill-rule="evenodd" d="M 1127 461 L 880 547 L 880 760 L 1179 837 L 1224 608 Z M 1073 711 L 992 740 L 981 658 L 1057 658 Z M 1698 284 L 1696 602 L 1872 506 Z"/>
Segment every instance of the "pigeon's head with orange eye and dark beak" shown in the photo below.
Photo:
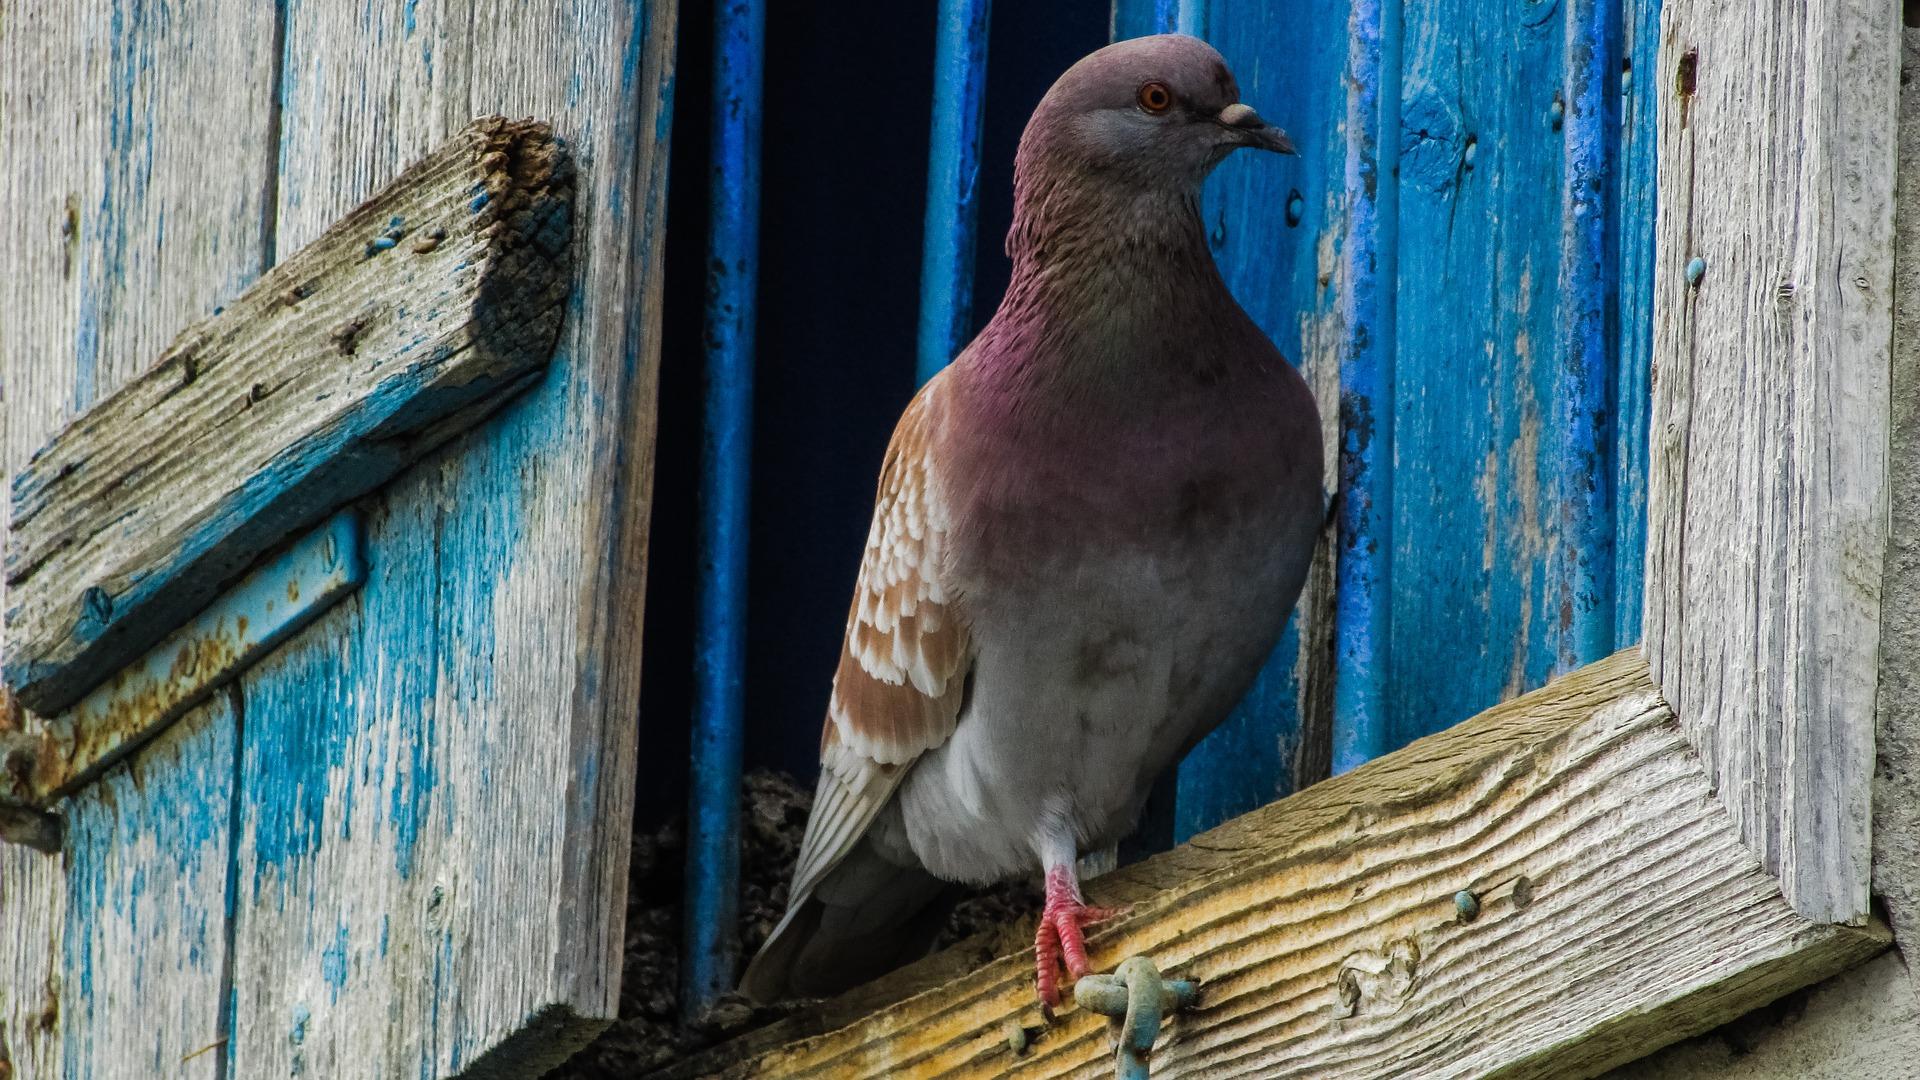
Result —
<path fill-rule="evenodd" d="M 1213 46 L 1158 35 L 1069 67 L 1041 98 L 1020 154 L 1129 186 L 1192 190 L 1242 146 L 1294 154 L 1284 131 L 1240 102 Z"/>

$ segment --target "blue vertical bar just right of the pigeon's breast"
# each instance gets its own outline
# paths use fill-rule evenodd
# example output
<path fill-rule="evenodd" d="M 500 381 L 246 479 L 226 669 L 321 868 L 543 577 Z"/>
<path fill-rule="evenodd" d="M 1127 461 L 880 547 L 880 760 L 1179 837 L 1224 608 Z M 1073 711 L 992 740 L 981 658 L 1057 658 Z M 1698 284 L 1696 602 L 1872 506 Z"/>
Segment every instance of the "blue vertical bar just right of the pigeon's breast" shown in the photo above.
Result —
<path fill-rule="evenodd" d="M 1334 773 L 1388 749 L 1400 0 L 1354 0 L 1348 31 Z"/>

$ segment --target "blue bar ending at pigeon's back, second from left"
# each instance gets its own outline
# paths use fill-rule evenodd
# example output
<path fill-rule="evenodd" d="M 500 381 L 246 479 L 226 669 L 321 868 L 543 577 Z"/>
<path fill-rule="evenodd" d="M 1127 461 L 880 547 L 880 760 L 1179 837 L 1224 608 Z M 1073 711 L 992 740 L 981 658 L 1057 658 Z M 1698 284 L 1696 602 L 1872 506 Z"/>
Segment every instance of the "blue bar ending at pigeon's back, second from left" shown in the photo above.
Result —
<path fill-rule="evenodd" d="M 941 0 L 933 38 L 933 144 L 920 252 L 920 382 L 966 346 L 973 329 L 973 236 L 979 127 L 987 104 L 991 0 Z"/>

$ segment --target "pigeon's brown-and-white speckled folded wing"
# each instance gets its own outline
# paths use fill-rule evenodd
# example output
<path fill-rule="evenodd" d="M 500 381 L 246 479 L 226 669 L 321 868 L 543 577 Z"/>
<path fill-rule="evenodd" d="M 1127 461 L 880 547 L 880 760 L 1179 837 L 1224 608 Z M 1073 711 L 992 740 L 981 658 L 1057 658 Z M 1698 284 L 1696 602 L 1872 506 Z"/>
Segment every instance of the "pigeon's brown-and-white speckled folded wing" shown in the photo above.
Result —
<path fill-rule="evenodd" d="M 906 769 L 947 742 L 960 715 L 972 642 L 958 598 L 941 580 L 947 496 L 927 454 L 929 404 L 941 382 L 929 382 L 906 407 L 879 473 L 791 907 L 847 857 Z"/>

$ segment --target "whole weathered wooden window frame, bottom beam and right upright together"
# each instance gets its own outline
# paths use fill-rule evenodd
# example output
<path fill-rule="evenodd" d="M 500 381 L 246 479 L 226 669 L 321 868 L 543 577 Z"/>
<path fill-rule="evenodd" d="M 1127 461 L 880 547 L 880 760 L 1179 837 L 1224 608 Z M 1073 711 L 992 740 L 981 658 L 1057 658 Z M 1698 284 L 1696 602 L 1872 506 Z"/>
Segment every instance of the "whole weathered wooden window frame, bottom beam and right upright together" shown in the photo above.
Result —
<path fill-rule="evenodd" d="M 1908 940 L 1920 630 L 1891 605 L 1882 630 L 1920 592 L 1899 67 L 1893 4 L 1665 6 L 1644 642 L 1094 880 L 1131 905 L 1096 967 L 1200 982 L 1156 1076 L 1596 1076 Z M 1041 1019 L 1029 940 L 664 1076 L 1106 1068 L 1104 1020 Z"/>

